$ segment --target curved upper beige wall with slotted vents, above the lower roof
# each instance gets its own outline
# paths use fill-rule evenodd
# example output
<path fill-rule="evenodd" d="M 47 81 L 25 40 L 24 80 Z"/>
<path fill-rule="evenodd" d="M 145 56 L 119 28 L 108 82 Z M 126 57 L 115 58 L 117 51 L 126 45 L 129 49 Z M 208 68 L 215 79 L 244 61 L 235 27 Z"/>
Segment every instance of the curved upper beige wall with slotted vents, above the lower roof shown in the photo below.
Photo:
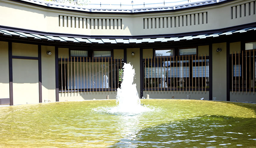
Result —
<path fill-rule="evenodd" d="M 193 7 L 194 9 L 184 9 L 181 11 L 173 11 L 173 12 L 156 12 L 156 13 L 134 13 L 134 14 L 117 14 L 117 13 L 85 13 L 85 12 L 71 12 L 65 10 L 55 10 L 55 9 L 47 9 L 44 7 L 36 7 L 28 4 L 21 4 L 15 1 L 6 1 L 0 0 L 0 13 L 5 15 L 0 15 L 0 20 L 8 20 L 1 21 L 0 25 L 10 26 L 15 28 L 24 28 L 29 30 L 38 30 L 44 32 L 54 32 L 54 33 L 68 33 L 68 34 L 80 34 L 80 35 L 105 35 L 105 36 L 136 36 L 136 35 L 154 35 L 154 34 L 175 34 L 175 33 L 185 33 L 185 32 L 195 32 L 201 30 L 214 30 L 220 28 L 227 28 L 231 26 L 248 24 L 256 21 L 255 15 L 253 15 L 253 1 L 254 0 L 235 0 L 230 1 L 224 4 L 218 4 L 208 7 Z M 248 2 L 251 2 L 251 15 L 248 15 L 249 5 Z M 242 17 L 239 17 L 239 9 L 238 9 L 238 18 L 231 19 L 231 7 L 238 6 L 240 4 L 246 4 L 246 16 L 243 16 L 243 8 L 242 8 Z M 235 9 L 233 9 L 235 11 Z M 206 12 L 207 12 L 207 23 L 206 23 Z M 202 23 L 202 13 L 204 14 L 204 23 Z M 196 24 L 193 24 L 194 15 Z M 199 24 L 198 24 L 198 15 L 200 16 Z M 62 17 L 64 18 L 64 27 Z M 191 18 L 190 18 L 191 15 Z M 234 12 L 233 12 L 234 15 Z M 96 19 L 96 28 L 92 26 L 92 28 L 82 28 L 82 27 L 74 27 L 75 20 L 73 19 L 73 27 L 70 27 L 70 19 L 68 21 L 69 27 L 66 26 L 66 16 L 68 17 L 79 17 L 79 18 L 88 18 L 88 19 Z M 178 20 L 176 22 L 177 27 L 169 27 L 166 26 L 166 18 L 164 20 L 165 27 L 163 26 L 163 20 L 160 20 L 160 28 L 158 28 L 158 18 L 169 17 L 168 22 L 170 22 L 170 17 L 172 17 L 172 24 L 174 26 L 174 17 L 178 18 L 184 17 L 184 26 L 182 26 L 182 20 L 180 19 L 180 27 L 178 27 Z M 186 16 L 188 16 L 188 25 L 186 25 Z M 145 19 L 145 29 L 143 29 L 143 18 Z M 151 28 L 151 22 L 149 22 L 149 29 L 147 29 L 147 18 L 151 20 L 151 18 L 157 18 L 157 28 Z M 97 19 L 111 19 L 113 23 L 113 19 L 122 19 L 122 29 L 109 29 L 108 22 L 105 24 L 101 24 L 99 22 L 99 29 L 97 28 Z M 190 20 L 192 20 L 192 24 L 190 25 Z M 60 21 L 60 24 L 59 24 Z M 77 24 L 80 22 L 82 26 L 81 20 L 76 20 Z M 222 22 L 222 23 L 220 23 Z M 120 22 L 119 22 L 120 23 Z M 93 22 L 92 22 L 93 24 Z M 154 24 L 154 19 L 153 23 Z M 85 22 L 84 22 L 85 25 Z M 107 29 L 102 29 L 101 26 L 107 26 Z M 116 26 L 116 24 L 115 24 Z M 120 25 L 121 26 L 121 25 Z"/>

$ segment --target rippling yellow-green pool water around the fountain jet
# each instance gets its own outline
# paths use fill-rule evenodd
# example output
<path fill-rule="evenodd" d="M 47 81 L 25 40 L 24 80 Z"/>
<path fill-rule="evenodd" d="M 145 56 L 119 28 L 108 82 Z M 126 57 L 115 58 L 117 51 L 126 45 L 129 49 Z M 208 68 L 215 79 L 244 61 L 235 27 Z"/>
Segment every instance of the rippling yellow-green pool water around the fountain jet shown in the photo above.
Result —
<path fill-rule="evenodd" d="M 140 114 L 115 100 L 0 108 L 0 147 L 255 147 L 256 104 L 143 99 Z"/>

